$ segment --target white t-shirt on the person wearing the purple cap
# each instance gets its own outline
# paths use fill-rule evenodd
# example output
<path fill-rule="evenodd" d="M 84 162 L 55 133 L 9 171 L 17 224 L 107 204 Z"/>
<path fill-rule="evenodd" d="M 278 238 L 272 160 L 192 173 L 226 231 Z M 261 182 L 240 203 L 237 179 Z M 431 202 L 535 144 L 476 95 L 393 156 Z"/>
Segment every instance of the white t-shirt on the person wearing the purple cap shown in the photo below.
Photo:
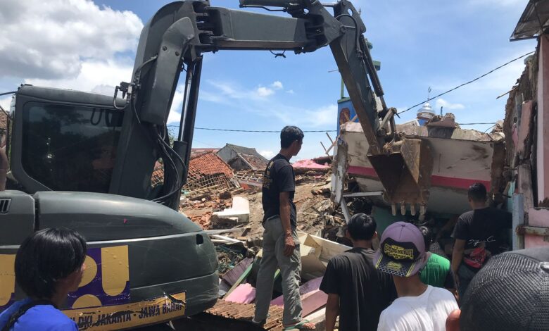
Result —
<path fill-rule="evenodd" d="M 419 296 L 402 296 L 381 312 L 377 331 L 444 331 L 446 318 L 457 309 L 447 289 L 428 286 Z"/>

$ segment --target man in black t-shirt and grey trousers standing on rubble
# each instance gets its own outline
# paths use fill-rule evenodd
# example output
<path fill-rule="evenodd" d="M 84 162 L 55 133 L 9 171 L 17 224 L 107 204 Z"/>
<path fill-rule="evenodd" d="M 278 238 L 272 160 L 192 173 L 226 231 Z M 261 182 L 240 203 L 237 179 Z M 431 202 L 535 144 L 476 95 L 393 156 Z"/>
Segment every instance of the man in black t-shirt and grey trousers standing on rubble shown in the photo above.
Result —
<path fill-rule="evenodd" d="M 282 275 L 284 296 L 284 327 L 315 330 L 315 324 L 301 318 L 301 255 L 296 232 L 296 205 L 294 204 L 294 168 L 290 158 L 296 156 L 303 144 L 303 131 L 286 126 L 280 132 L 280 152 L 269 161 L 263 174 L 263 256 L 255 287 L 255 315 L 253 323 L 264 323 L 272 299 L 274 273 Z"/>

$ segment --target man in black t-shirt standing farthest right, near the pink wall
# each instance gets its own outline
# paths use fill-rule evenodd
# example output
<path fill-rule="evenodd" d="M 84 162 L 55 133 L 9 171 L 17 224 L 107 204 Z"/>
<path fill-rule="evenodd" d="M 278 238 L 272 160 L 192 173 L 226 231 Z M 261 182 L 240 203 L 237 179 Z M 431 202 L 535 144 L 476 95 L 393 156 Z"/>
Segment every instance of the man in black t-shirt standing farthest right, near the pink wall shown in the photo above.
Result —
<path fill-rule="evenodd" d="M 455 239 L 452 270 L 460 298 L 488 258 L 508 249 L 503 230 L 512 227 L 511 213 L 486 207 L 484 185 L 474 183 L 467 196 L 473 210 L 462 213 L 452 235 Z"/>

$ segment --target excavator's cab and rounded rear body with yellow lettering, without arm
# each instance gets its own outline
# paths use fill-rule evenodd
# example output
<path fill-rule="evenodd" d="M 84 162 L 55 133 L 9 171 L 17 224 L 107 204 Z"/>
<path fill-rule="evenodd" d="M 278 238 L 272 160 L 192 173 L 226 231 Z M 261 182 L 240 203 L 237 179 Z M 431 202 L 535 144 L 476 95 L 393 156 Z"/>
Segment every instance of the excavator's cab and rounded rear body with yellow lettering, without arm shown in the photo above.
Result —
<path fill-rule="evenodd" d="M 149 201 L 159 194 L 151 187 L 158 158 L 151 145 L 141 145 L 147 157 L 127 170 L 139 189 L 113 193 L 117 164 L 128 156 L 125 135 L 148 139 L 124 101 L 115 101 L 120 109 L 112 96 L 30 85 L 15 94 L 11 180 L 0 192 L 0 311 L 24 296 L 13 270 L 18 245 L 48 227 L 69 227 L 87 239 L 87 270 L 61 307 L 82 329 L 163 323 L 217 301 L 217 254 L 208 234 Z"/>

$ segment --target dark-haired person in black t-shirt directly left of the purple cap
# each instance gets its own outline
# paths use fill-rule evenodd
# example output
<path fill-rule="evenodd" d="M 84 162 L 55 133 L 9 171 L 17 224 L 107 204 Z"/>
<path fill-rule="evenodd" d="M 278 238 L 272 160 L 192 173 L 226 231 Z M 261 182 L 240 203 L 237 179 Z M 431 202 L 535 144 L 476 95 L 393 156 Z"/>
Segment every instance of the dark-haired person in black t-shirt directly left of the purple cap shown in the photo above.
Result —
<path fill-rule="evenodd" d="M 320 289 L 328 294 L 326 330 L 333 331 L 339 315 L 339 330 L 375 331 L 381 311 L 396 299 L 390 275 L 378 271 L 372 262 L 372 239 L 376 221 L 364 213 L 353 215 L 346 237 L 353 249 L 328 262 Z"/>

